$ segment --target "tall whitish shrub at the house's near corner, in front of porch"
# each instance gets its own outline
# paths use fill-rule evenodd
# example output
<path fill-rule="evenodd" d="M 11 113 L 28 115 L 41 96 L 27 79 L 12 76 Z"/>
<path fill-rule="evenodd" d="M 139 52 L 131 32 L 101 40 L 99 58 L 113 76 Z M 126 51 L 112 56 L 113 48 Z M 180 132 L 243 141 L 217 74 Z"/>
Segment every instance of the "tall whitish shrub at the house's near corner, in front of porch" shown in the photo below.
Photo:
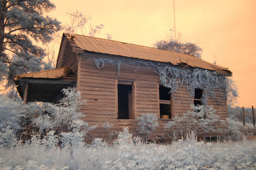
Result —
<path fill-rule="evenodd" d="M 80 92 L 76 88 L 63 89 L 65 97 L 58 104 L 49 104 L 46 113 L 40 114 L 33 119 L 40 134 L 44 136 L 46 131 L 55 131 L 61 146 L 79 146 L 83 143 L 84 136 L 88 135 L 96 126 L 90 126 L 81 120 L 84 117 L 79 106 L 85 101 L 81 100 Z"/>

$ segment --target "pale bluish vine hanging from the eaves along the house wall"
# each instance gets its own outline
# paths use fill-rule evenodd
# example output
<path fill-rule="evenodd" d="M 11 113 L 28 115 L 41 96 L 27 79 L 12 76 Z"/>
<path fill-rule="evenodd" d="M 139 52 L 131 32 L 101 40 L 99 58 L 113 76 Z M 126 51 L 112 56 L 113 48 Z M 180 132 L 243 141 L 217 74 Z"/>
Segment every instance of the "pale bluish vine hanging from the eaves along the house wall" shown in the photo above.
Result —
<path fill-rule="evenodd" d="M 226 89 L 225 96 L 227 97 L 230 92 L 227 91 L 228 81 L 226 76 L 218 74 L 216 71 L 208 71 L 207 69 L 200 69 L 192 67 L 185 69 L 182 67 L 172 66 L 170 64 L 163 64 L 158 62 L 144 61 L 144 60 L 125 60 L 125 59 L 109 59 L 109 58 L 98 58 L 94 60 L 95 66 L 99 69 L 104 67 L 105 63 L 116 62 L 118 76 L 121 69 L 122 62 L 131 65 L 138 65 L 137 71 L 140 66 L 150 66 L 156 69 L 156 73 L 159 74 L 159 80 L 164 87 L 168 87 L 171 93 L 175 93 L 177 87 L 186 85 L 189 90 L 191 97 L 195 96 L 195 89 L 204 90 L 202 101 L 204 104 L 207 103 L 209 96 L 215 97 L 216 90 Z"/>

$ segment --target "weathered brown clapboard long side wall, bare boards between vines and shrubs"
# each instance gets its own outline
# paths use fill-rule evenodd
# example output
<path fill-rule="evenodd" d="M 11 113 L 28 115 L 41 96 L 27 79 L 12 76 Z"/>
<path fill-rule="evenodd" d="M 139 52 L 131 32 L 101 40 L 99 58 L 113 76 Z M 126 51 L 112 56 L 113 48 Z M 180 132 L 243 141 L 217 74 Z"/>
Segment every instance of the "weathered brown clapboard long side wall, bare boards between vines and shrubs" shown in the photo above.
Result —
<path fill-rule="evenodd" d="M 90 125 L 98 125 L 97 129 L 93 130 L 92 137 L 108 138 L 108 132 L 102 127 L 106 122 L 113 124 L 111 128 L 113 132 L 122 131 L 122 127 L 129 127 L 132 134 L 136 135 L 138 127 L 135 119 L 117 118 L 117 82 L 135 82 L 134 117 L 140 117 L 143 113 L 159 115 L 159 76 L 154 73 L 152 67 L 140 66 L 138 69 L 138 66 L 125 62 L 122 62 L 118 76 L 116 63 L 106 63 L 102 69 L 95 67 L 94 60 L 99 57 L 111 56 L 85 53 L 78 59 L 77 90 L 81 92 L 82 98 L 87 100 L 87 103 L 81 107 L 81 111 L 86 116 L 84 120 Z M 136 69 L 138 71 L 134 71 Z M 216 98 L 210 99 L 209 103 L 214 105 L 214 109 L 221 118 L 225 118 L 227 104 L 218 103 L 222 93 L 222 91 L 217 92 Z M 179 87 L 173 99 L 173 115 L 182 115 L 193 103 L 193 98 L 189 97 L 186 87 Z M 168 136 L 170 132 L 164 130 L 164 124 L 168 121 L 170 120 L 159 119 L 157 136 Z"/>

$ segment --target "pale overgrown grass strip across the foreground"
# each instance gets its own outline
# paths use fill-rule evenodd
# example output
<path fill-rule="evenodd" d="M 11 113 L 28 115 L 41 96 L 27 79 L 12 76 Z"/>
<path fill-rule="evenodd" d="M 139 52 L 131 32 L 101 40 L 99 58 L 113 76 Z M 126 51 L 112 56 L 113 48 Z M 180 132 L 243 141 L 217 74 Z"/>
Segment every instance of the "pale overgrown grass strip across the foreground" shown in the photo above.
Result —
<path fill-rule="evenodd" d="M 47 149 L 34 143 L 1 148 L 0 169 L 255 169 L 255 150 L 255 141 L 204 143 L 193 134 L 172 145 L 131 136 L 111 146 Z"/>

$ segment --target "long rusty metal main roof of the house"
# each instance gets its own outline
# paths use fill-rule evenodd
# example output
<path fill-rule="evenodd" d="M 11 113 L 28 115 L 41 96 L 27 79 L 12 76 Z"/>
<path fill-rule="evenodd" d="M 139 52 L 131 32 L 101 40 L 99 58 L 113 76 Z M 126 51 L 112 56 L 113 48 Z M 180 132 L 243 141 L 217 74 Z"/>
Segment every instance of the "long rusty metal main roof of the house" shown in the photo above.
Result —
<path fill-rule="evenodd" d="M 122 43 L 109 39 L 94 38 L 90 36 L 65 34 L 69 39 L 73 40 L 76 45 L 88 52 L 106 53 L 110 55 L 119 55 L 124 57 L 132 57 L 136 59 L 152 60 L 156 62 L 167 62 L 173 65 L 186 64 L 191 67 L 200 67 L 218 71 L 223 74 L 232 74 L 228 68 L 215 66 L 193 55 L 183 53 L 159 50 L 147 46 Z"/>

